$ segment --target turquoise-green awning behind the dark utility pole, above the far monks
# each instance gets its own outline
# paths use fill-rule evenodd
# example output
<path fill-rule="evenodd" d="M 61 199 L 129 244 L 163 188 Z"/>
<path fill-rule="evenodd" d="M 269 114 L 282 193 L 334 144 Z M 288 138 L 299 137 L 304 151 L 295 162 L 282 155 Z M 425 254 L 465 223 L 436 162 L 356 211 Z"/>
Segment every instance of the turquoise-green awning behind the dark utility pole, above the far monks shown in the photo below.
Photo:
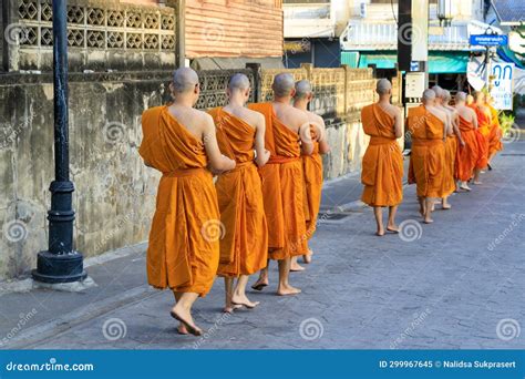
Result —
<path fill-rule="evenodd" d="M 375 64 L 378 69 L 393 69 L 398 62 L 398 55 L 393 51 L 384 53 L 361 53 L 357 59 L 356 51 L 341 52 L 341 63 L 351 68 L 367 68 Z M 469 52 L 464 51 L 431 51 L 429 53 L 430 73 L 466 73 L 469 63 Z"/>

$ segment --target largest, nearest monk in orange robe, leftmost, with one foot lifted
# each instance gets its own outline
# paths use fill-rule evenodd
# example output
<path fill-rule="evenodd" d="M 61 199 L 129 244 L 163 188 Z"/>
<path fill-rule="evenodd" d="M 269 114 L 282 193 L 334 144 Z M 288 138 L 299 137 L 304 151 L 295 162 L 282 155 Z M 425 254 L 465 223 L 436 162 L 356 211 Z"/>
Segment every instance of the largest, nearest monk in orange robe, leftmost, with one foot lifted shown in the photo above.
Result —
<path fill-rule="evenodd" d="M 171 90 L 172 105 L 150 109 L 142 117 L 140 154 L 163 173 L 147 247 L 147 279 L 174 291 L 171 315 L 181 321 L 178 331 L 200 336 L 192 306 L 214 283 L 222 228 L 207 167 L 233 170 L 235 161 L 220 154 L 212 116 L 193 107 L 199 95 L 197 73 L 175 71 Z"/>

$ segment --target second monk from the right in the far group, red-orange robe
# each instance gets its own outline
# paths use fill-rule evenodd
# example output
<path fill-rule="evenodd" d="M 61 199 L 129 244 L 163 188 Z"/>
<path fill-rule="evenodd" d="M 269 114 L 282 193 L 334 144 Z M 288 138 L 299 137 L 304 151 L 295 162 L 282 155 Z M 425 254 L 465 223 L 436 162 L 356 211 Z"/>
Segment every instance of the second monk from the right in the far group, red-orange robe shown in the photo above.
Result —
<path fill-rule="evenodd" d="M 485 106 L 485 93 L 474 92 L 474 103 L 470 105 L 476 113 L 477 119 L 477 163 L 474 168 L 474 184 L 482 184 L 480 181 L 481 171 L 488 163 L 488 137 L 491 134 L 491 111 Z"/>

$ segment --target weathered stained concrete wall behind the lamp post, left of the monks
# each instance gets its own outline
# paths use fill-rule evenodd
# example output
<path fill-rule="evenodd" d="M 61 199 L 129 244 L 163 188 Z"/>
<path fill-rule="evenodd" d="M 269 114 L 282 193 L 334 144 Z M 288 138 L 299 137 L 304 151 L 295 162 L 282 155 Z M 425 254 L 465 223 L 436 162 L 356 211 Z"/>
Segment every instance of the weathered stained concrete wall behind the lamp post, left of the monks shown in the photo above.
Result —
<path fill-rule="evenodd" d="M 158 175 L 137 154 L 140 116 L 166 100 L 164 76 L 70 83 L 75 242 L 85 256 L 147 238 Z M 50 78 L 23 81 L 0 84 L 0 280 L 27 274 L 48 245 L 53 88 Z"/>

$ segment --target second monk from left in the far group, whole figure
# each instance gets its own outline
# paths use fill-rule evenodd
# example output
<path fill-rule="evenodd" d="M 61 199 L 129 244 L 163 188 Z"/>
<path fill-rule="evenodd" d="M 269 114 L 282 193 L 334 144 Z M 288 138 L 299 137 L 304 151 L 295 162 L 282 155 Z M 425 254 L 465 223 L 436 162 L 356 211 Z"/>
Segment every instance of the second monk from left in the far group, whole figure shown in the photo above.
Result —
<path fill-rule="evenodd" d="M 425 224 L 433 223 L 435 198 L 443 197 L 443 164 L 446 114 L 434 106 L 435 93 L 423 92 L 423 104 L 409 111 L 408 126 L 412 135 L 409 184 L 416 184 L 420 213 Z"/>

